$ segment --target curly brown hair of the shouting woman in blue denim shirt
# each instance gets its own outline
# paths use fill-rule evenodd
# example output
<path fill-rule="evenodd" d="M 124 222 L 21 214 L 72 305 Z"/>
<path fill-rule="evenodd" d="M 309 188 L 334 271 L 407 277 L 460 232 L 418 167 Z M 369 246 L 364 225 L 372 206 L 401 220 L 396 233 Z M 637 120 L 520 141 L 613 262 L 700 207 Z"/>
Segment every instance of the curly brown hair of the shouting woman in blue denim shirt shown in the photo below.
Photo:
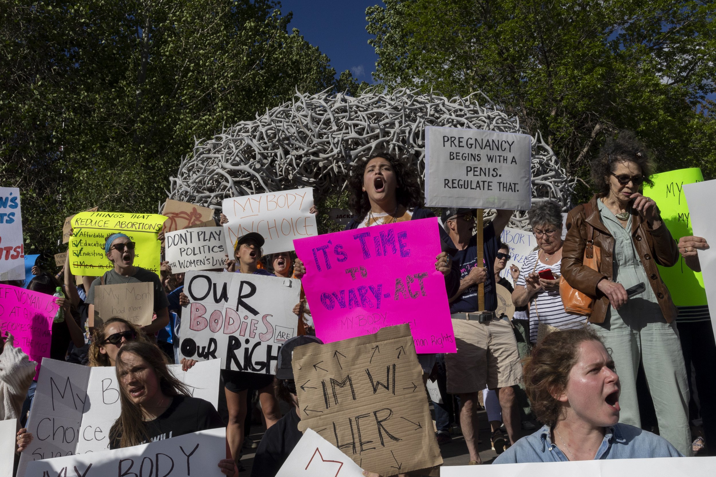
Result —
<path fill-rule="evenodd" d="M 585 341 L 598 341 L 604 345 L 590 328 L 559 330 L 548 334 L 534 348 L 532 355 L 523 360 L 525 390 L 541 423 L 554 426 L 563 413 L 562 403 L 553 395 L 567 388 L 569 372 L 579 358 L 579 345 Z"/>

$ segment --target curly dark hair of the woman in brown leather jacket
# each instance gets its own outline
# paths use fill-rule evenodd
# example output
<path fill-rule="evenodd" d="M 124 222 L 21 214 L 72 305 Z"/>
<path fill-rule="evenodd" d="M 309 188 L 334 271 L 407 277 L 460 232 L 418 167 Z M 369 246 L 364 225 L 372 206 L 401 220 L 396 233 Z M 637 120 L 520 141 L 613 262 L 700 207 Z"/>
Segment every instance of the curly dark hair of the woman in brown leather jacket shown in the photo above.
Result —
<path fill-rule="evenodd" d="M 654 163 L 652 152 L 642 144 L 631 131 L 620 131 L 616 137 L 607 137 L 599 154 L 591 162 L 591 180 L 601 194 L 609 193 L 609 174 L 614 172 L 619 162 L 634 162 L 642 168 L 644 182 L 654 186 L 652 174 Z"/>

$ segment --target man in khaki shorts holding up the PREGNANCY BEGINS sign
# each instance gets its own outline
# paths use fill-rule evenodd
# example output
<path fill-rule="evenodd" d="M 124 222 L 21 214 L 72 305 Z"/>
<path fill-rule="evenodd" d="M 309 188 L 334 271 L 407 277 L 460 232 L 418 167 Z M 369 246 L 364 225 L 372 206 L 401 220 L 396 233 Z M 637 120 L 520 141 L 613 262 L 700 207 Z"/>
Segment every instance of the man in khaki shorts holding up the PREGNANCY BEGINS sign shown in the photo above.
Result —
<path fill-rule="evenodd" d="M 448 232 L 448 246 L 456 252 L 453 260 L 460 267 L 460 289 L 450 297 L 450 313 L 458 353 L 445 355 L 448 393 L 458 394 L 463 403 L 460 427 L 470 452 L 470 464 L 481 463 L 477 450 L 478 420 L 475 408 L 478 392 L 494 389 L 502 407 L 503 421 L 511 443 L 518 438 L 519 411 L 512 385 L 522 378 L 517 341 L 508 320 L 495 315 L 497 288 L 493 267 L 499 240 L 512 216 L 511 210 L 498 210 L 497 217 L 483 228 L 483 263 L 478 264 L 475 211 L 448 208 L 442 224 Z M 480 310 L 478 285 L 484 284 L 485 309 Z M 497 431 L 499 432 L 499 431 Z M 495 451 L 501 453 L 504 438 L 495 436 Z"/>

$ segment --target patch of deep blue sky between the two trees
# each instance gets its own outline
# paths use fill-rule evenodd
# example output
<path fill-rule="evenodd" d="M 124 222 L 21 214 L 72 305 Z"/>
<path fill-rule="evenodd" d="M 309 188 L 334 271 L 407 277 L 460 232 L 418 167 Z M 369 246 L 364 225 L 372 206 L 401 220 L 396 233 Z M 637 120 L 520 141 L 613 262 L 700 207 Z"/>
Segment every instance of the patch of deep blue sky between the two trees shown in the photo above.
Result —
<path fill-rule="evenodd" d="M 372 83 L 377 55 L 368 44 L 365 9 L 380 0 L 281 0 L 281 13 L 294 12 L 289 24 L 331 59 L 337 73 L 351 70 L 359 81 Z"/>

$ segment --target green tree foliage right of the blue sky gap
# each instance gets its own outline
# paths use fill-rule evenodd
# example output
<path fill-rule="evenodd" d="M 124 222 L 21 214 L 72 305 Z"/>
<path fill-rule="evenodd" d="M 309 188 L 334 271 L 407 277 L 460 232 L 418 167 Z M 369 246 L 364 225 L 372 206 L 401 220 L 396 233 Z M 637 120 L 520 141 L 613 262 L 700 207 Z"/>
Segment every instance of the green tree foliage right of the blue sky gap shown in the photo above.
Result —
<path fill-rule="evenodd" d="M 605 134 L 632 129 L 659 170 L 716 176 L 712 0 L 385 0 L 367 30 L 387 87 L 482 90 L 586 179 Z M 586 193 L 586 187 L 582 189 Z"/>

